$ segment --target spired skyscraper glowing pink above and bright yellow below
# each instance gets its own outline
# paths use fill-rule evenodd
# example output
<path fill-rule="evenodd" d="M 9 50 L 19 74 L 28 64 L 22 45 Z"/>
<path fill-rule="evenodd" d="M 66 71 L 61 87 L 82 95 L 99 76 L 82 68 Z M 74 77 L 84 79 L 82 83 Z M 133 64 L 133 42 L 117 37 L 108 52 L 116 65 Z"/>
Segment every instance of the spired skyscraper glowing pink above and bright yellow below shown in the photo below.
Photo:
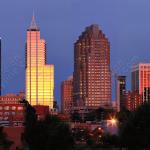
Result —
<path fill-rule="evenodd" d="M 26 98 L 31 105 L 53 108 L 54 65 L 46 64 L 46 42 L 33 16 L 27 29 L 26 41 Z"/>

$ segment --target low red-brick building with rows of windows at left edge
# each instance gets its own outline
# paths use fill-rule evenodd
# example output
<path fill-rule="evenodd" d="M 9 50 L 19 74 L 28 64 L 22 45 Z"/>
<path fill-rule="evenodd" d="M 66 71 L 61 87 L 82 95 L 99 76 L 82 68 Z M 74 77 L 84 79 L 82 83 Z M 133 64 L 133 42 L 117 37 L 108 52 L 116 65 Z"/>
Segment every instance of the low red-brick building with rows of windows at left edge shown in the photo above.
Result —
<path fill-rule="evenodd" d="M 24 99 L 23 92 L 0 96 L 1 126 L 23 126 L 25 108 L 20 103 L 22 99 Z"/>

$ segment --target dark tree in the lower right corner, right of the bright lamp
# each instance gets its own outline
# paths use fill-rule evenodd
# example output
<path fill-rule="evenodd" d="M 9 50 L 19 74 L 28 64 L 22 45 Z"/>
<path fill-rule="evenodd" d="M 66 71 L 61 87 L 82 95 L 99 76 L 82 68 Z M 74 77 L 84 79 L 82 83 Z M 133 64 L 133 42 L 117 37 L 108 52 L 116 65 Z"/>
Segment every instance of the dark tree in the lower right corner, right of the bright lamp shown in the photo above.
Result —
<path fill-rule="evenodd" d="M 132 112 L 120 126 L 121 146 L 129 150 L 150 149 L 150 103 L 144 103 Z"/>

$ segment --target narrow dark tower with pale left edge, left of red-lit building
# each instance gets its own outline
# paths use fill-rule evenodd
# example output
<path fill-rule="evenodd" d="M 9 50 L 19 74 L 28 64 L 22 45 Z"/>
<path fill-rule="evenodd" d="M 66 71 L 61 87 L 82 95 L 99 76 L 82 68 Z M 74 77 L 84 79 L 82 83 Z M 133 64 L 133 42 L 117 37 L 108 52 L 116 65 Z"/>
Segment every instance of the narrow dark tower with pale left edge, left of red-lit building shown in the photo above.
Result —
<path fill-rule="evenodd" d="M 126 76 L 116 77 L 116 99 L 117 99 L 117 111 L 119 112 L 125 107 L 125 95 L 126 95 Z"/>

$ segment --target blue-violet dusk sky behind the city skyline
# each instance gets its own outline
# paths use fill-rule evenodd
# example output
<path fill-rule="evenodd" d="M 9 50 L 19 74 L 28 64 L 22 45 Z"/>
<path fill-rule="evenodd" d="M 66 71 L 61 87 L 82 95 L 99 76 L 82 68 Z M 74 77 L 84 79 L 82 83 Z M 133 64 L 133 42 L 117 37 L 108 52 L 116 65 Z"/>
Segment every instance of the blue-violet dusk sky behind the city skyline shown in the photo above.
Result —
<path fill-rule="evenodd" d="M 150 0 L 0 0 L 3 94 L 25 89 L 26 29 L 33 10 L 47 43 L 47 63 L 55 65 L 57 101 L 61 81 L 73 73 L 73 44 L 86 26 L 98 24 L 108 37 L 111 68 L 128 76 L 128 89 L 131 65 L 150 62 Z"/>

